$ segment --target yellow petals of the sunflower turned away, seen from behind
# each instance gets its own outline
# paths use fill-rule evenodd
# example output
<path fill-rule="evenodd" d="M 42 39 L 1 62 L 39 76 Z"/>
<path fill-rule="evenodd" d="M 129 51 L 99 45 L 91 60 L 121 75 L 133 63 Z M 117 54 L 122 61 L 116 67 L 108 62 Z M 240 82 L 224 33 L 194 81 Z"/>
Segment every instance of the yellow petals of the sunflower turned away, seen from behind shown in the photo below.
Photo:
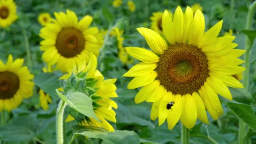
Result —
<path fill-rule="evenodd" d="M 96 70 L 97 58 L 93 53 L 91 53 L 88 65 L 86 65 L 86 60 L 85 58 L 83 58 L 83 56 L 79 56 L 79 58 L 80 63 L 78 64 L 77 68 L 73 69 L 72 67 L 67 67 L 68 74 L 62 76 L 60 79 L 67 80 L 72 75 L 72 73 L 79 75 L 80 72 L 86 72 L 87 75 L 85 81 L 96 81 L 95 86 L 90 87 L 90 89 L 96 91 L 96 93 L 93 96 L 91 96 L 91 99 L 93 99 L 93 110 L 100 121 L 95 120 L 91 117 L 86 117 L 82 125 L 91 125 L 95 127 L 104 128 L 107 131 L 114 131 L 114 128 L 107 122 L 107 120 L 112 121 L 114 123 L 116 122 L 116 114 L 112 107 L 117 109 L 117 104 L 115 103 L 115 101 L 109 99 L 117 97 L 117 94 L 115 92 L 116 86 L 114 84 L 116 79 L 104 80 L 104 77 L 101 75 L 101 73 L 98 70 Z M 87 83 L 89 82 L 86 82 L 86 84 Z M 67 117 L 66 122 L 72 120 L 74 120 L 74 117 L 69 115 Z"/>

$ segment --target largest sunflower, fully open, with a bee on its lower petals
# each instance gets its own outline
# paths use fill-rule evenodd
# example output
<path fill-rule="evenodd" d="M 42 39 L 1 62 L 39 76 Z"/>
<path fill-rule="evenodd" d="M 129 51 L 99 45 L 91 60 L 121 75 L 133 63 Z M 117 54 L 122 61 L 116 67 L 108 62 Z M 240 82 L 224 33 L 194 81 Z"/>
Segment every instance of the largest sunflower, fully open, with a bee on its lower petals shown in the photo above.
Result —
<path fill-rule="evenodd" d="M 128 89 L 142 87 L 135 102 L 152 102 L 151 119 L 158 117 L 159 125 L 167 119 L 171 130 L 176 123 L 192 128 L 197 118 L 208 123 L 205 108 L 214 120 L 223 114 L 218 94 L 232 100 L 227 86 L 243 88 L 232 75 L 243 72 L 244 61 L 237 59 L 245 51 L 234 49 L 233 36 L 217 37 L 219 21 L 207 32 L 203 13 L 187 7 L 185 13 L 178 6 L 173 20 L 163 13 L 163 34 L 147 28 L 137 30 L 152 49 L 128 47 L 126 51 L 142 61 L 123 76 L 135 77 Z"/>

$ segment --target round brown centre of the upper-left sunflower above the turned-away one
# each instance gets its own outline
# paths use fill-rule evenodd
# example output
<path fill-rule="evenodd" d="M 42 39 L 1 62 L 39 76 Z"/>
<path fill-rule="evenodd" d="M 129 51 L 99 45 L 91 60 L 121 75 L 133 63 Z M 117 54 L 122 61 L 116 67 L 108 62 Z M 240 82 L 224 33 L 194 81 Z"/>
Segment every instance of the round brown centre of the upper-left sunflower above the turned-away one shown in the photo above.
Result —
<path fill-rule="evenodd" d="M 61 56 L 71 58 L 80 54 L 85 48 L 85 39 L 78 29 L 67 27 L 61 29 L 55 44 Z"/>

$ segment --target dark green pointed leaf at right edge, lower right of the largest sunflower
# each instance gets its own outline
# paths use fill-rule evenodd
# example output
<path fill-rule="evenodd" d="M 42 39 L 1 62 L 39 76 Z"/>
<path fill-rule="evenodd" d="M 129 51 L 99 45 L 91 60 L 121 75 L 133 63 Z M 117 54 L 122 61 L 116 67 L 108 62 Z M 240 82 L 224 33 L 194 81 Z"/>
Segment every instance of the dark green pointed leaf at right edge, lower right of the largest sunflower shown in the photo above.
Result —
<path fill-rule="evenodd" d="M 256 131 L 256 115 L 250 105 L 228 102 L 227 106 L 240 120 L 243 120 L 250 128 Z"/>

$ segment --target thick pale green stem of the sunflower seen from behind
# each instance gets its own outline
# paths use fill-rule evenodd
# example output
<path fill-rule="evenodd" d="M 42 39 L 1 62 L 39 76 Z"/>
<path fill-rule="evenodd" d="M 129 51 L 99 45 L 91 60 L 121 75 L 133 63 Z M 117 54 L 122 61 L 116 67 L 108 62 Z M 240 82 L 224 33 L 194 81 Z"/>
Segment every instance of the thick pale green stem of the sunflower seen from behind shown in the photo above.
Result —
<path fill-rule="evenodd" d="M 64 144 L 63 139 L 63 115 L 66 107 L 65 101 L 59 101 L 56 117 L 56 133 L 57 133 L 57 144 Z"/>

